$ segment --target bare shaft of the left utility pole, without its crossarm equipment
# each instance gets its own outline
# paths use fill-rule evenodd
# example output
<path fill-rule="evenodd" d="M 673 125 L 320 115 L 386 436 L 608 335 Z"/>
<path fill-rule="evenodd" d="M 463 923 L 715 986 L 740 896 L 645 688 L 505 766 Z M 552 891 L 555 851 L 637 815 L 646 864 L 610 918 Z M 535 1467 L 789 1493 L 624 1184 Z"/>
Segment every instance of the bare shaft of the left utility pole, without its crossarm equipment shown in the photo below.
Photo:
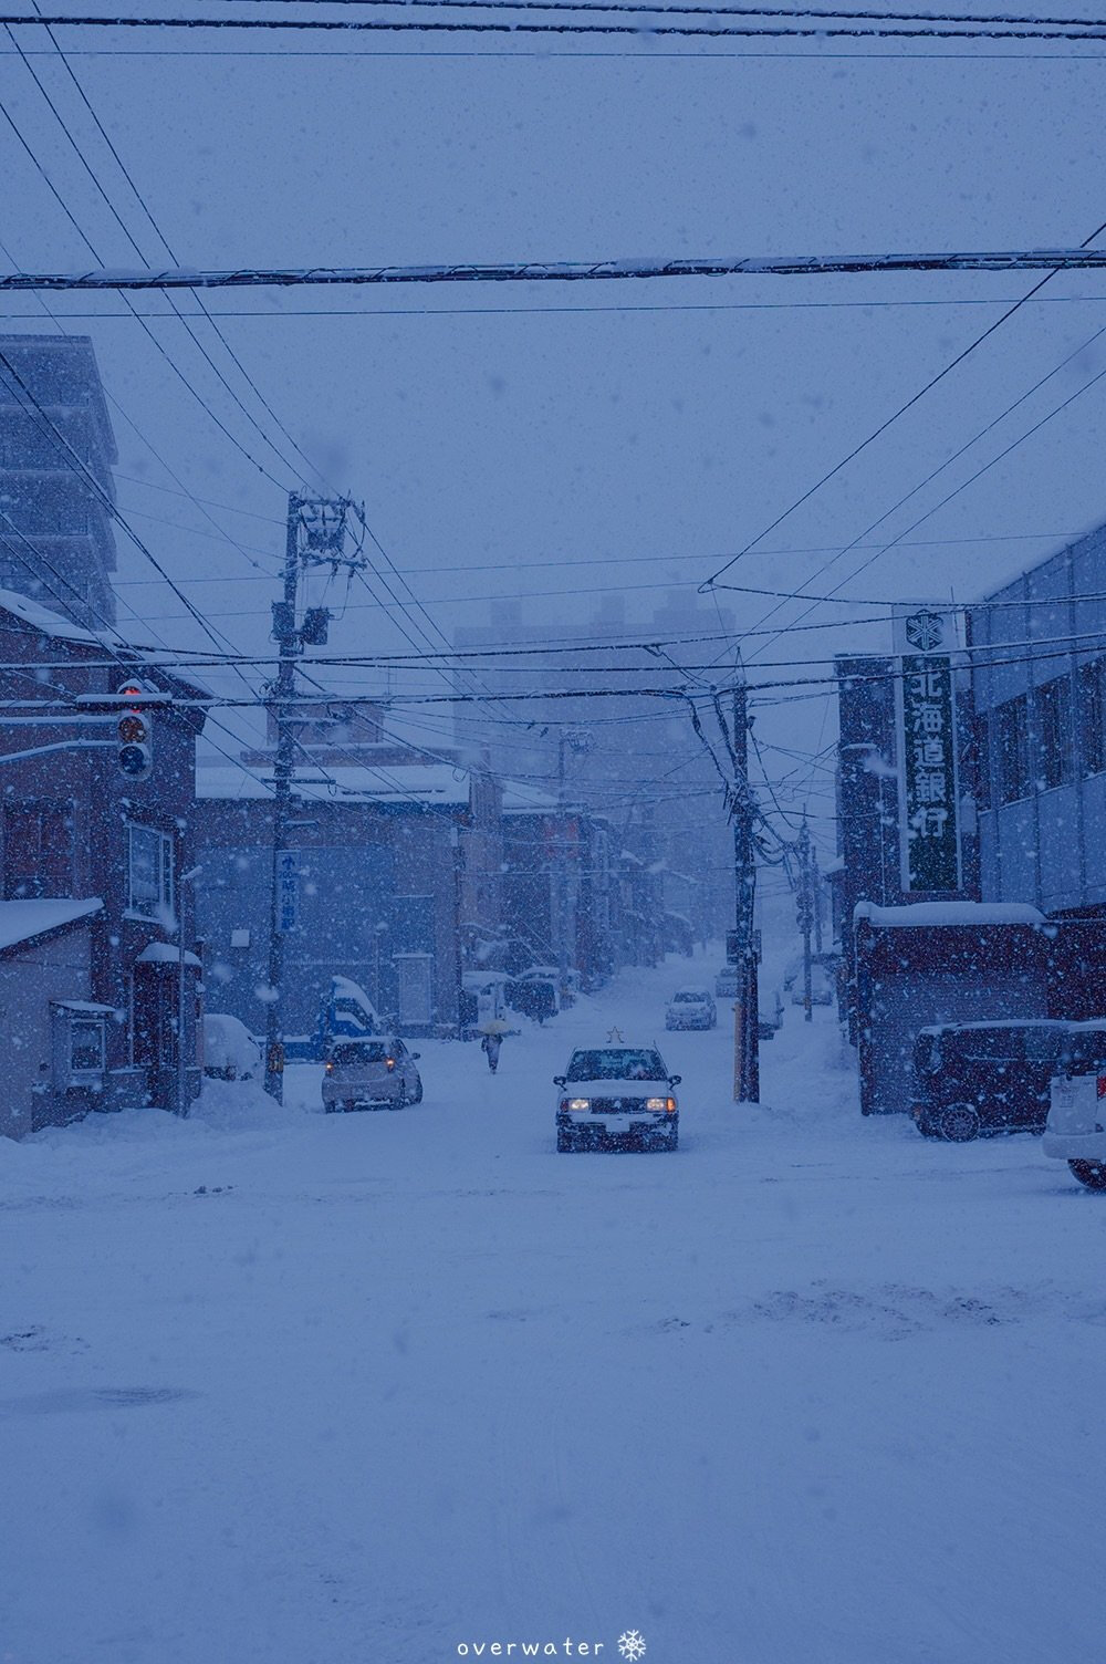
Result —
<path fill-rule="evenodd" d="M 273 764 L 273 889 L 269 894 L 269 977 L 268 1005 L 264 1012 L 264 1090 L 278 1103 L 284 1098 L 284 932 L 281 929 L 281 855 L 288 849 L 288 819 L 291 809 L 291 774 L 296 755 L 296 735 L 291 724 L 291 706 L 296 697 L 296 659 L 301 652 L 296 631 L 296 601 L 299 594 L 299 509 L 303 503 L 293 493 L 288 498 L 288 532 L 284 539 L 284 599 L 273 609 L 273 634 L 279 646 L 276 684 L 269 711 L 276 722 L 276 757 Z"/>

